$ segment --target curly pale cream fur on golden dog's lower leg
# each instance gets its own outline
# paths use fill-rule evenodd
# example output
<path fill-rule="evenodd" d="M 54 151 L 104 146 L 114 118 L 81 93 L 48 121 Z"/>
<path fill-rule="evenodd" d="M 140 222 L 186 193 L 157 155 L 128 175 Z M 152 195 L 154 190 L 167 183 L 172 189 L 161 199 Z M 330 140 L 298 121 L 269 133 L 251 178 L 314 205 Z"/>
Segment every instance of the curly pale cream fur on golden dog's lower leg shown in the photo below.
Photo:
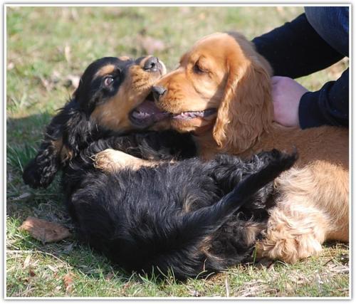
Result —
<path fill-rule="evenodd" d="M 263 239 L 256 243 L 258 256 L 295 263 L 322 250 L 329 219 L 313 206 L 305 206 L 307 199 L 286 197 L 271 209 Z"/>

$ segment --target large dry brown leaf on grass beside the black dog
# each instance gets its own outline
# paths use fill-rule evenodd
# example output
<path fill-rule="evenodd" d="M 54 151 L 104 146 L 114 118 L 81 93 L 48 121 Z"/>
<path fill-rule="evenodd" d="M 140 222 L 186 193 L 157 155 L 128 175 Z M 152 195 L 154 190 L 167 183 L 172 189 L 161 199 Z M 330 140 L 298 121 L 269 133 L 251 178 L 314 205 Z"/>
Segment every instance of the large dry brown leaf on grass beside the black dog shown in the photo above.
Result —
<path fill-rule="evenodd" d="M 70 236 L 70 232 L 66 227 L 51 221 L 36 219 L 32 216 L 28 216 L 19 229 L 28 231 L 34 239 L 43 243 L 61 241 Z"/>

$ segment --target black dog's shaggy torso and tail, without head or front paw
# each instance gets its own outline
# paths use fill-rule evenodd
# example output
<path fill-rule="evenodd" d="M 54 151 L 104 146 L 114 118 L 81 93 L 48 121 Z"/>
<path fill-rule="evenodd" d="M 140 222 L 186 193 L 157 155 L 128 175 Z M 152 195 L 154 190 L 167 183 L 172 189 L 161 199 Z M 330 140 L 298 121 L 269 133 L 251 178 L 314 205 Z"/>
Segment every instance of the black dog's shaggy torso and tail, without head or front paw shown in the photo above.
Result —
<path fill-rule="evenodd" d="M 172 269 L 179 279 L 251 256 L 246 226 L 266 221 L 272 181 L 295 162 L 274 150 L 248 162 L 219 155 L 104 174 L 83 158 L 63 176 L 80 239 L 128 271 Z"/>

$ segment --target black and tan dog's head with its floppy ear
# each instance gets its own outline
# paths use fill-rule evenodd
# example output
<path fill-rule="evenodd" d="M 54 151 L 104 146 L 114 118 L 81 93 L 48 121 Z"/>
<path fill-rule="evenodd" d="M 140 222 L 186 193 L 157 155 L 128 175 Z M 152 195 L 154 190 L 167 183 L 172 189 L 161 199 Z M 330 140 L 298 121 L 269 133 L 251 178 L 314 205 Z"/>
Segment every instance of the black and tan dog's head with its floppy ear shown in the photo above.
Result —
<path fill-rule="evenodd" d="M 47 187 L 58 169 L 65 167 L 90 142 L 152 125 L 155 122 L 152 116 L 134 109 L 147 105 L 142 111 L 152 114 L 153 103 L 145 98 L 164 73 L 164 64 L 152 56 L 135 61 L 128 57 L 105 57 L 91 63 L 73 97 L 48 125 L 38 154 L 23 174 L 26 184 L 33 188 Z M 142 117 L 145 115 L 147 119 Z"/>

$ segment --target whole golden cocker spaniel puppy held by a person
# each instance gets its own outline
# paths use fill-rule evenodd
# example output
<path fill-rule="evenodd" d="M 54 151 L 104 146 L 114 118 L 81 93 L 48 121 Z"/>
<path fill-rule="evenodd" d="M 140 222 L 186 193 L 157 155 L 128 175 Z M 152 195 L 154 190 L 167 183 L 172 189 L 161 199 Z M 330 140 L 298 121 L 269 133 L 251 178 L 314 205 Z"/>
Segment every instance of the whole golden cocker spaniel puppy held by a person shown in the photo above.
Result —
<path fill-rule="evenodd" d="M 273 122 L 271 75 L 244 36 L 215 33 L 156 83 L 166 89 L 156 103 L 174 114 L 174 129 L 195 133 L 204 158 L 297 148 L 300 159 L 276 181 L 279 199 L 257 244 L 260 256 L 295 262 L 318 253 L 326 240 L 349 239 L 349 136 L 341 127 L 300 130 Z"/>

